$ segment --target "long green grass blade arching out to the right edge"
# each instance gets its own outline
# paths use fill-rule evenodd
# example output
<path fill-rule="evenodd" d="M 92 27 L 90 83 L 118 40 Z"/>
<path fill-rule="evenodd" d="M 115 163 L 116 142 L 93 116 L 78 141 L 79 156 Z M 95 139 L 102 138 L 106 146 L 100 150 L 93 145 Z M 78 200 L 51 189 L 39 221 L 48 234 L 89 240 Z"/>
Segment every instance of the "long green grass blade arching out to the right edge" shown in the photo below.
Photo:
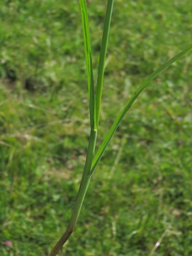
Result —
<path fill-rule="evenodd" d="M 124 106 L 123 110 L 119 114 L 119 116 L 116 118 L 115 122 L 111 126 L 109 132 L 105 136 L 105 139 L 100 145 L 100 148 L 98 149 L 97 153 L 95 154 L 93 161 L 92 161 L 92 168 L 89 173 L 91 176 L 94 172 L 97 164 L 99 163 L 105 149 L 107 148 L 113 134 L 115 133 L 117 127 L 119 126 L 121 120 L 123 119 L 124 115 L 127 113 L 127 110 L 131 107 L 133 102 L 137 99 L 139 94 L 143 91 L 143 89 L 159 74 L 161 73 L 165 68 L 169 67 L 173 62 L 178 60 L 181 56 L 183 56 L 186 52 L 188 52 L 192 48 L 192 44 L 190 44 L 187 48 L 185 48 L 182 52 L 178 53 L 176 56 L 174 56 L 171 60 L 168 60 L 165 62 L 160 68 L 158 68 L 156 71 L 154 71 L 148 78 L 138 87 L 138 89 L 134 92 L 132 97 L 128 100 L 126 105 Z"/>

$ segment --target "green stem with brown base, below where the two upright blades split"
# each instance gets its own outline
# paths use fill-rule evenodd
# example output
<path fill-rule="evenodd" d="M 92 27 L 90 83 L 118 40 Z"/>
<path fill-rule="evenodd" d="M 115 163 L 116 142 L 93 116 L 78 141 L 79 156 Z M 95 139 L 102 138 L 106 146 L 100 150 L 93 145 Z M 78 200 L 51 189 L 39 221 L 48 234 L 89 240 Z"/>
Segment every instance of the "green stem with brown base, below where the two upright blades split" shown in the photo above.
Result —
<path fill-rule="evenodd" d="M 81 210 L 81 206 L 83 204 L 83 200 L 84 200 L 84 197 L 87 192 L 87 188 L 89 186 L 89 182 L 91 179 L 91 176 L 89 175 L 89 173 L 91 170 L 96 138 L 97 138 L 97 130 L 91 129 L 89 145 L 88 145 L 88 149 L 87 149 L 87 156 L 86 156 L 86 161 L 85 161 L 85 166 L 84 166 L 84 172 L 83 172 L 81 184 L 79 187 L 79 192 L 77 195 L 76 203 L 74 205 L 74 208 L 73 208 L 73 211 L 71 214 L 71 218 L 68 223 L 67 230 L 61 236 L 60 240 L 57 242 L 57 244 L 52 249 L 52 251 L 48 254 L 48 256 L 57 255 L 57 253 L 62 248 L 63 244 L 65 244 L 65 242 L 68 240 L 69 236 L 73 233 L 73 231 L 75 229 L 76 222 L 79 217 L 80 210 Z"/>

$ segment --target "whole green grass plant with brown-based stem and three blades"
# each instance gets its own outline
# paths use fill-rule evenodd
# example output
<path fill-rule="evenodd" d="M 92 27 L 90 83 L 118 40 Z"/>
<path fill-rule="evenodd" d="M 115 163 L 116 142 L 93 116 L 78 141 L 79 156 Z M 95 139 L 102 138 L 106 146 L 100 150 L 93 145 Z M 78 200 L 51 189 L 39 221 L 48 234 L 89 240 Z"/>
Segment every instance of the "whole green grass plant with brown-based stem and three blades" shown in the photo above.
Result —
<path fill-rule="evenodd" d="M 107 44 L 108 44 L 108 35 L 109 35 L 109 27 L 111 21 L 111 14 L 113 8 L 113 0 L 108 0 L 107 11 L 104 22 L 103 36 L 101 41 L 101 50 L 100 50 L 100 60 L 98 67 L 98 75 L 97 75 L 97 84 L 96 84 L 96 93 L 94 92 L 94 79 L 93 79 L 93 70 L 92 70 L 92 52 L 91 52 L 91 40 L 90 40 L 90 32 L 89 32 L 89 21 L 88 21 L 88 13 L 87 13 L 87 5 L 86 0 L 80 0 L 80 9 L 81 9 L 81 17 L 82 17 L 82 27 L 83 27 L 83 37 L 84 37 L 84 50 L 85 50 L 85 60 L 87 67 L 87 81 L 88 81 L 88 95 L 89 95 L 89 109 L 90 109 L 90 137 L 89 144 L 87 148 L 87 155 L 84 165 L 84 172 L 82 175 L 81 184 L 79 187 L 76 203 L 74 205 L 71 218 L 69 220 L 68 227 L 61 236 L 58 243 L 52 249 L 48 256 L 55 256 L 62 248 L 63 244 L 68 240 L 69 236 L 73 233 L 76 222 L 81 210 L 81 206 L 84 201 L 84 197 L 86 191 L 89 186 L 89 182 L 91 176 L 97 167 L 103 153 L 105 152 L 113 134 L 115 133 L 117 127 L 119 126 L 121 120 L 127 113 L 128 109 L 132 106 L 133 102 L 137 99 L 140 93 L 144 90 L 144 88 L 165 68 L 169 67 L 172 63 L 182 57 L 185 53 L 187 53 L 191 48 L 192 44 L 185 48 L 182 52 L 178 53 L 172 59 L 165 62 L 160 68 L 156 69 L 148 78 L 140 84 L 138 89 L 134 92 L 131 98 L 127 101 L 124 108 L 116 118 L 115 122 L 111 126 L 109 132 L 105 136 L 103 142 L 101 143 L 98 151 L 94 156 L 95 144 L 97 139 L 97 130 L 99 125 L 99 116 L 100 116 L 100 105 L 101 105 L 101 95 L 102 95 L 102 86 L 103 86 L 103 76 L 104 76 L 104 67 L 105 67 L 105 59 L 107 52 Z"/>

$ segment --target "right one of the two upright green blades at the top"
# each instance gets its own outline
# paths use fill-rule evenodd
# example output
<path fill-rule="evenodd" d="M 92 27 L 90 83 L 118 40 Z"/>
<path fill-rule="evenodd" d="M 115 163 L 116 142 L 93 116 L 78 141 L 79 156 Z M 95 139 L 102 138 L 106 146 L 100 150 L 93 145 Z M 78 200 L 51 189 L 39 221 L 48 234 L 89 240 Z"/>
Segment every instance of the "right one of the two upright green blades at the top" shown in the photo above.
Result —
<path fill-rule="evenodd" d="M 101 41 L 101 51 L 100 51 L 100 58 L 99 58 L 97 86 L 96 86 L 96 95 L 95 95 L 97 127 L 99 124 L 103 76 L 104 76 L 104 69 L 105 69 L 105 58 L 106 58 L 106 52 L 107 52 L 107 44 L 108 44 L 108 36 L 109 36 L 109 28 L 111 23 L 113 2 L 114 0 L 108 0 L 107 11 L 105 15 L 105 22 L 104 22 L 104 29 L 103 29 L 103 36 Z"/>

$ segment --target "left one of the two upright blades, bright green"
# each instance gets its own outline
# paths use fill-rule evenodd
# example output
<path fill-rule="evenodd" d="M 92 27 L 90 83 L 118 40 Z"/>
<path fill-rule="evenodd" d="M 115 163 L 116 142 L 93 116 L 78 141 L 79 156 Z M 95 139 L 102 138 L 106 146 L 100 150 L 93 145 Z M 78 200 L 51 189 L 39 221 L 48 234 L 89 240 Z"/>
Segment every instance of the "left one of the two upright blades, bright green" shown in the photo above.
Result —
<path fill-rule="evenodd" d="M 90 40 L 90 32 L 89 32 L 87 4 L 86 4 L 86 0 L 80 0 L 79 2 L 80 2 L 80 8 L 81 8 L 85 59 L 86 59 L 86 66 L 87 66 L 90 122 L 91 122 L 91 128 L 96 129 L 95 94 L 94 94 L 94 83 L 93 83 L 91 40 Z"/>

